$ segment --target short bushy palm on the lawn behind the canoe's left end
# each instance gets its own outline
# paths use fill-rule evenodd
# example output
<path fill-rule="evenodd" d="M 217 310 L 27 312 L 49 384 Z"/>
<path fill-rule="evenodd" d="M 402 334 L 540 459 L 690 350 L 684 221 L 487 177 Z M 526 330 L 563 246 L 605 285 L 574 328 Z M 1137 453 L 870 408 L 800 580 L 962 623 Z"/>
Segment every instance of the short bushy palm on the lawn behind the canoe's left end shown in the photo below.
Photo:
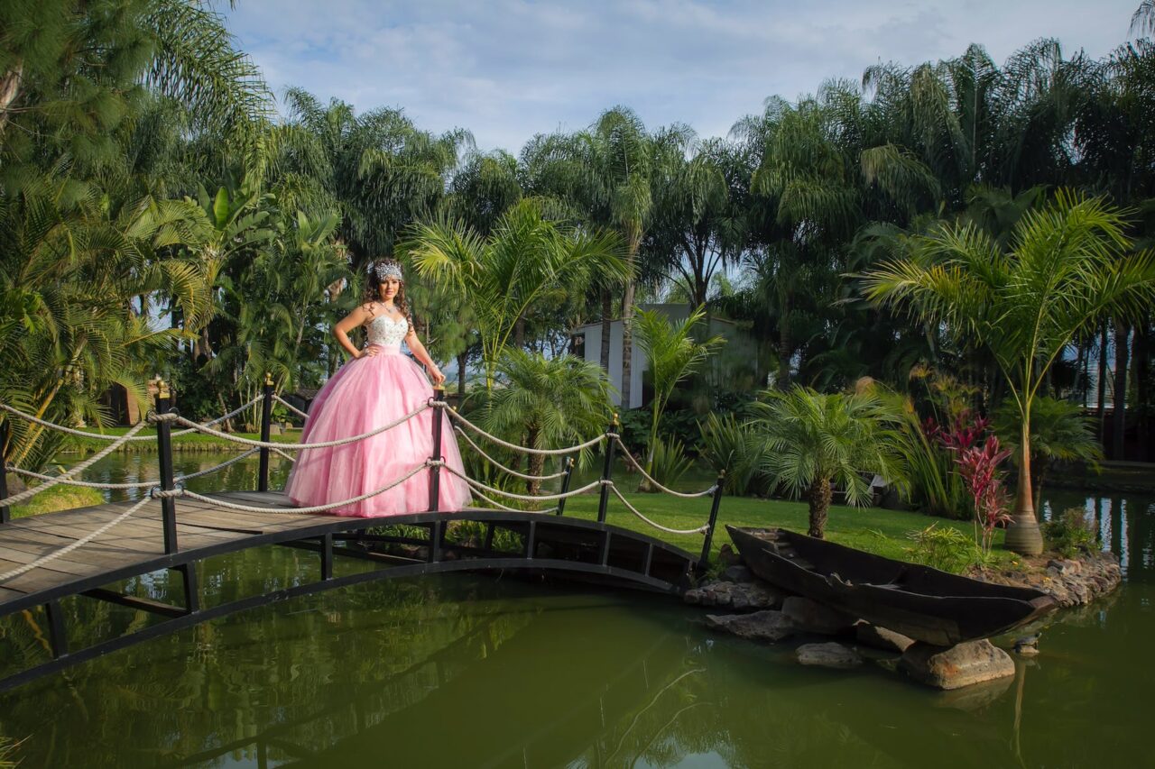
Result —
<path fill-rule="evenodd" d="M 870 501 L 864 475 L 904 481 L 895 447 L 897 417 L 877 394 L 826 395 L 795 386 L 763 395 L 753 421 L 766 442 L 763 469 L 792 493 L 806 492 L 811 537 L 821 539 L 826 531 L 832 481 L 851 505 Z"/>

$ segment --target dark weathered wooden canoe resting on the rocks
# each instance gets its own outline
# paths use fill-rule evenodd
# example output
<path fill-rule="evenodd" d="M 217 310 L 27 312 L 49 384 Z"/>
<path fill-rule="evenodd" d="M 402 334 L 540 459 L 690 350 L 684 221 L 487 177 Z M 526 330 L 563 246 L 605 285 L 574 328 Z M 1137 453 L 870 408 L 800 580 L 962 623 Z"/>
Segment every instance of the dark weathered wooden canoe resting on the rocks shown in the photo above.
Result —
<path fill-rule="evenodd" d="M 1000 635 L 1057 606 L 1040 590 L 979 582 L 785 529 L 726 531 L 762 580 L 940 647 Z"/>

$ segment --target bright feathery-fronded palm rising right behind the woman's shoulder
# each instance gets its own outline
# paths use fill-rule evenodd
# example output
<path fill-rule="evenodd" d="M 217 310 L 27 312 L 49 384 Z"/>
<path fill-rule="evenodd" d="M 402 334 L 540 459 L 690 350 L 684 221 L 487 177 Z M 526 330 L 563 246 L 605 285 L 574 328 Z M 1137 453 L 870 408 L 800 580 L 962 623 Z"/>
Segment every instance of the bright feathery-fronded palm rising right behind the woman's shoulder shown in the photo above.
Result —
<path fill-rule="evenodd" d="M 400 251 L 422 276 L 447 282 L 472 306 L 490 390 L 517 322 L 536 303 L 575 281 L 628 272 L 614 233 L 560 226 L 530 199 L 506 211 L 487 238 L 438 219 L 416 225 Z"/>

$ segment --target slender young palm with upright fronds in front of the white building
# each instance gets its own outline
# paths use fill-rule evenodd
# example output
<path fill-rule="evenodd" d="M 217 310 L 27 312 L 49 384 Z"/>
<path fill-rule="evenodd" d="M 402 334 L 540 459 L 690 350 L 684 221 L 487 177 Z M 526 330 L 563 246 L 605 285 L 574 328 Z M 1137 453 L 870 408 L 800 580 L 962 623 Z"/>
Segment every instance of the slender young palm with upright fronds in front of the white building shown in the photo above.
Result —
<path fill-rule="evenodd" d="M 694 327 L 706 318 L 706 308 L 698 307 L 679 323 L 656 311 L 638 313 L 638 345 L 646 353 L 654 378 L 654 397 L 650 400 L 650 434 L 646 471 L 654 472 L 654 451 L 657 447 L 657 426 L 662 412 L 678 382 L 701 368 L 706 359 L 725 342 L 714 336 L 705 342 L 693 337 Z"/>

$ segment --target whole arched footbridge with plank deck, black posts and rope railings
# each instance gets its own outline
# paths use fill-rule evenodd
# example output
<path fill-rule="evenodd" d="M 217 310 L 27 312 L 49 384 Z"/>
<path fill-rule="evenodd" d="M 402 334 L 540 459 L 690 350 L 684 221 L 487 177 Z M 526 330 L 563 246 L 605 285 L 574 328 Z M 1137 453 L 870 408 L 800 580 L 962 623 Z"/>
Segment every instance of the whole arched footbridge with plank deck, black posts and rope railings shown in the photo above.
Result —
<path fill-rule="evenodd" d="M 427 404 L 401 420 L 382 425 L 364 435 L 355 435 L 325 445 L 273 443 L 269 441 L 271 410 L 280 398 L 267 382 L 264 394 L 238 411 L 206 424 L 184 419 L 170 408 L 165 388 L 157 398 L 157 410 L 149 421 L 156 425 L 159 449 L 159 480 L 125 484 L 90 483 L 77 476 L 87 468 L 127 442 L 154 440 L 137 435 L 141 423 L 125 435 L 107 436 L 61 427 L 0 404 L 5 421 L 0 423 L 0 448 L 9 445 L 7 436 L 20 436 L 29 430 L 59 430 L 92 440 L 109 441 L 109 446 L 70 470 L 45 476 L 6 466 L 12 472 L 36 478 L 40 483 L 17 494 L 8 494 L 5 473 L 0 472 L 0 618 L 20 611 L 43 607 L 47 620 L 51 659 L 0 680 L 0 689 L 17 686 L 36 675 L 91 659 L 96 656 L 189 627 L 204 620 L 252 609 L 269 602 L 306 595 L 372 580 L 412 576 L 437 572 L 521 569 L 545 574 L 579 576 L 613 584 L 636 587 L 658 592 L 676 593 L 687 587 L 693 572 L 701 569 L 709 555 L 710 540 L 721 500 L 721 484 L 693 494 L 668 490 L 654 479 L 654 486 L 679 497 L 713 498 L 709 522 L 690 531 L 665 528 L 636 510 L 618 491 L 612 479 L 616 450 L 643 472 L 616 433 L 616 421 L 606 432 L 580 446 L 560 449 L 535 449 L 508 443 L 472 425 L 449 408 L 438 391 Z M 214 430 L 239 411 L 262 406 L 261 440 L 253 441 Z M 288 408 L 290 404 L 284 403 Z M 295 508 L 288 499 L 268 488 L 270 454 L 284 454 L 301 448 L 350 443 L 380 434 L 418 413 L 433 411 L 433 456 L 412 468 L 397 479 L 353 500 L 340 500 L 313 508 Z M 494 468 L 492 478 L 549 481 L 560 480 L 561 490 L 554 494 L 521 494 L 509 491 L 508 484 L 491 485 L 456 473 L 442 462 L 440 455 L 441 424 L 448 415 L 462 427 L 476 432 L 505 451 L 553 456 L 562 460 L 562 470 L 552 475 L 531 476 L 508 468 L 486 454 L 465 435 L 467 442 Z M 172 463 L 172 427 L 180 425 L 186 433 L 207 433 L 223 440 L 241 443 L 247 450 L 238 457 L 214 468 L 174 477 Z M 464 435 L 464 433 L 462 432 Z M 574 469 L 572 455 L 604 443 L 602 477 L 578 490 L 571 490 Z M 185 481 L 219 470 L 245 456 L 260 455 L 258 491 L 199 494 L 185 487 Z M 461 475 L 475 495 L 498 509 L 468 509 L 460 513 L 439 513 L 439 473 Z M 325 513 L 367 499 L 398 485 L 418 472 L 429 472 L 430 512 L 387 518 L 359 518 L 310 515 Z M 648 476 L 647 476 L 648 478 Z M 105 491 L 136 490 L 142 499 L 135 502 L 113 502 L 91 508 L 66 510 L 45 515 L 9 520 L 9 506 L 54 485 L 97 487 Z M 596 521 L 567 517 L 567 499 L 580 494 L 598 493 Z M 660 539 L 635 531 L 609 525 L 605 522 L 610 495 L 616 494 L 623 505 L 643 522 L 671 533 L 700 532 L 705 542 L 700 555 L 687 553 Z M 499 502 L 493 497 L 511 502 Z M 177 502 L 180 501 L 179 515 Z M 527 512 L 512 505 L 556 502 L 545 513 Z M 554 513 L 550 515 L 550 513 Z M 386 532 L 378 529 L 386 527 Z M 400 530 L 398 530 L 400 528 Z M 416 536 L 411 529 L 416 528 Z M 464 535 L 464 536 L 463 536 Z M 509 543 L 514 543 L 513 546 Z M 233 553 L 262 545 L 285 545 L 315 551 L 320 562 L 320 580 L 278 589 L 232 603 L 202 606 L 198 588 L 198 566 L 204 559 Z M 504 547 L 504 550 L 502 550 Z M 334 562 L 344 560 L 371 561 L 379 568 L 352 574 L 335 574 Z M 184 582 L 182 605 L 173 605 L 135 595 L 126 595 L 117 584 L 124 580 L 161 569 L 179 572 Z M 75 650 L 69 645 L 68 619 L 61 599 L 83 596 L 109 602 L 161 617 L 164 621 L 143 627 L 134 633 L 95 643 Z"/>

